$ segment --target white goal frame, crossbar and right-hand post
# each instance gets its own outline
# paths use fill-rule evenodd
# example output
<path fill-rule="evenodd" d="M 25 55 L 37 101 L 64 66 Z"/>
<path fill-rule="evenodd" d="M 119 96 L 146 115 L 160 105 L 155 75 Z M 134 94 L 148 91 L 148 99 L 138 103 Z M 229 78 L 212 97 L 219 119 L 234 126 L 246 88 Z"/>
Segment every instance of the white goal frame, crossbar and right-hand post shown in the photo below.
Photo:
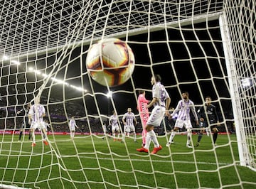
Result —
<path fill-rule="evenodd" d="M 185 18 L 182 20 L 177 20 L 173 21 L 170 23 L 164 23 L 164 24 L 159 24 L 156 26 L 147 26 L 144 28 L 139 28 L 139 29 L 133 29 L 129 31 L 129 35 L 127 35 L 127 32 L 122 32 L 122 33 L 115 33 L 109 36 L 105 36 L 105 38 L 110 38 L 110 37 L 115 37 L 115 38 L 124 38 L 124 37 L 129 37 L 129 36 L 135 36 L 147 32 L 154 32 L 154 31 L 161 31 L 164 30 L 165 28 L 177 28 L 177 27 L 182 27 L 182 26 L 188 26 L 193 23 L 202 23 L 205 21 L 213 21 L 213 20 L 218 20 L 219 25 L 220 25 L 220 35 L 221 38 L 223 39 L 223 51 L 225 55 L 225 65 L 226 69 L 228 72 L 228 83 L 230 87 L 230 98 L 232 102 L 232 107 L 233 107 L 233 117 L 235 121 L 235 130 L 236 130 L 236 136 L 238 139 L 238 151 L 239 151 L 239 158 L 240 158 L 240 165 L 241 166 L 248 166 L 249 168 L 252 168 L 254 171 L 256 171 L 255 168 L 251 166 L 251 158 L 250 158 L 250 153 L 247 148 L 247 141 L 245 137 L 245 126 L 242 121 L 242 110 L 240 106 L 240 99 L 239 99 L 239 92 L 238 92 L 238 75 L 235 74 L 235 61 L 233 57 L 233 49 L 232 45 L 230 43 L 230 33 L 228 31 L 228 21 L 223 13 L 223 11 L 218 11 L 215 13 L 209 13 L 209 14 L 202 14 L 199 16 L 193 16 L 191 18 Z M 28 52 L 26 54 L 20 54 L 17 56 L 13 56 L 11 59 L 12 60 L 19 60 L 21 58 L 30 58 L 38 55 L 44 55 L 44 54 L 50 54 L 50 53 L 55 53 L 57 50 L 61 50 L 63 48 L 69 49 L 69 48 L 74 48 L 80 47 L 82 45 L 90 45 L 94 43 L 95 41 L 100 40 L 101 38 L 92 38 L 90 40 L 85 40 L 85 41 L 78 41 L 75 43 L 68 43 L 68 45 L 61 45 L 56 48 L 47 48 L 46 50 L 36 50 Z M 4 62 L 4 60 L 3 60 Z"/>

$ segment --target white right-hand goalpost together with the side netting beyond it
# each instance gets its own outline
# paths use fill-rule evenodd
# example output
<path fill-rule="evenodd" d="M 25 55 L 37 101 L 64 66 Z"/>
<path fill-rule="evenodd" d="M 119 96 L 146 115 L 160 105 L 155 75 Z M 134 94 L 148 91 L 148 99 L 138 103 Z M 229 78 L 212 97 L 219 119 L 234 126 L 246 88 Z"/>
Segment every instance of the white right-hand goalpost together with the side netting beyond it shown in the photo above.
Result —
<path fill-rule="evenodd" d="M 255 148 L 251 148 L 251 144 L 255 144 L 255 48 L 245 45 L 247 41 L 251 44 L 255 42 L 252 37 L 255 33 L 252 24 L 255 19 L 255 2 L 241 1 L 240 6 L 237 6 L 234 1 L 224 7 L 226 11 L 220 16 L 220 31 L 229 76 L 235 129 L 239 131 L 237 138 L 240 164 L 255 170 Z M 235 24 L 231 15 L 238 16 L 239 24 Z M 229 23 L 233 23 L 233 26 Z"/>

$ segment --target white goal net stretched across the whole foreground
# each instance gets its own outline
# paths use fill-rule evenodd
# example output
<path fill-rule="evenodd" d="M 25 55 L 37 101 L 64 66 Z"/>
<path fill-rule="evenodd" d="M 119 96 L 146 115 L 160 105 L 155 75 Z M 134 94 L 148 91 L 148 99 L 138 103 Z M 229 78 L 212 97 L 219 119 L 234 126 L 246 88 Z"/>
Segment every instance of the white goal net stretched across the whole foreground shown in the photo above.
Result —
<path fill-rule="evenodd" d="M 255 188 L 255 6 L 254 0 L 3 1 L 0 188 Z M 122 39 L 134 52 L 134 72 L 123 85 L 102 86 L 87 72 L 88 49 L 104 38 Z M 175 119 L 166 117 L 154 128 L 162 150 L 136 150 L 137 97 L 145 90 L 151 99 L 155 74 L 170 108 L 183 91 L 196 111 L 211 97 L 220 119 L 215 145 L 213 134 L 204 133 L 196 147 L 200 128 L 191 117 L 193 148 L 183 129 L 167 147 Z M 26 107 L 36 97 L 46 109 L 49 144 L 36 129 L 32 147 Z M 110 116 L 117 112 L 123 134 L 127 108 L 138 121 L 137 142 L 132 134 L 114 141 Z"/>

